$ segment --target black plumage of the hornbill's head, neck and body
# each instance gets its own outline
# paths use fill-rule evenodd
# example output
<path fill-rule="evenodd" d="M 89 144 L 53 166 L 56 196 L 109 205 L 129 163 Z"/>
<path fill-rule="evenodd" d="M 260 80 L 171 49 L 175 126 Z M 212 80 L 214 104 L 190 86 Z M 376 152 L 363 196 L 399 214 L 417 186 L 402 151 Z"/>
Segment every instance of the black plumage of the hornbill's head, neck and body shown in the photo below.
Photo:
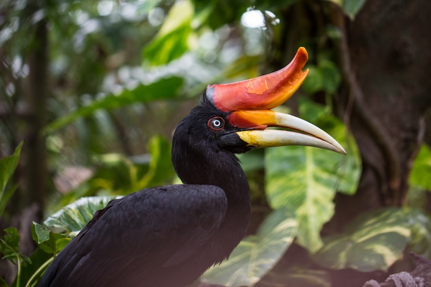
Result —
<path fill-rule="evenodd" d="M 212 131 L 207 122 L 217 116 L 225 115 L 203 98 L 176 128 L 172 161 L 185 184 L 109 202 L 54 259 L 39 287 L 186 286 L 222 262 L 244 237 L 251 209 L 244 172 L 228 150 L 250 148 L 232 126 Z"/>

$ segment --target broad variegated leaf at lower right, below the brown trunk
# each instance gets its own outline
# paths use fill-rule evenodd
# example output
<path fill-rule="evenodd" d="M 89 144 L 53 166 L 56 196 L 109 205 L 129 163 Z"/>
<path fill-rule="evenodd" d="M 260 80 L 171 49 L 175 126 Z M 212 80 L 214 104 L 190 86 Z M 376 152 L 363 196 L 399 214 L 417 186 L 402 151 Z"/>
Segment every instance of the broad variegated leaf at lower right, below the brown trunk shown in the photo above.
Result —
<path fill-rule="evenodd" d="M 353 268 L 361 272 L 388 270 L 410 240 L 409 215 L 388 208 L 360 215 L 346 232 L 325 238 L 315 261 L 325 268 Z"/>

